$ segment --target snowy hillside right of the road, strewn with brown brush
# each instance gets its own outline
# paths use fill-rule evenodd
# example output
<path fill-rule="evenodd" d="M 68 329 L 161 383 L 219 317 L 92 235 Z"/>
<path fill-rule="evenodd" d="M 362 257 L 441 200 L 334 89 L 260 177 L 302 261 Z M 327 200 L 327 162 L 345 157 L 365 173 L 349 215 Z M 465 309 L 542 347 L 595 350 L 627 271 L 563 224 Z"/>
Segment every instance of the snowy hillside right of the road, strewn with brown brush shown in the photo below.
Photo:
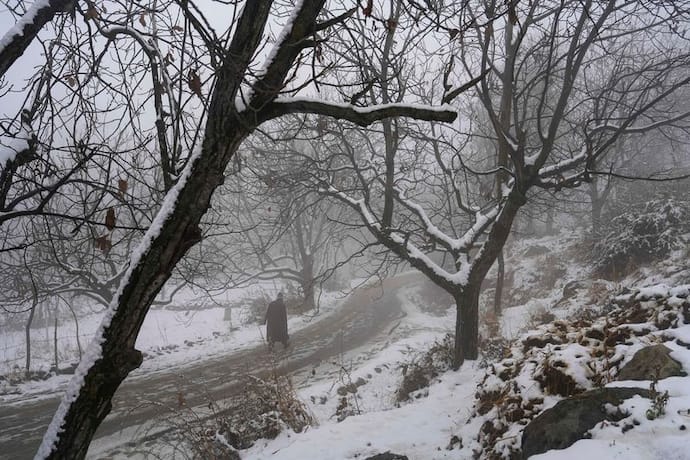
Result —
<path fill-rule="evenodd" d="M 609 394 L 617 390 L 598 390 L 608 399 L 586 406 L 601 409 L 585 411 L 596 420 L 579 433 L 587 439 L 533 458 L 690 458 L 690 378 L 682 370 L 690 369 L 687 250 L 615 282 L 589 276 L 583 253 L 573 235 L 513 245 L 506 264 L 512 289 L 500 325 L 505 337 L 489 340 L 492 353 L 459 372 L 447 371 L 440 327 L 450 327 L 452 312 L 434 316 L 424 293 L 408 296 L 404 334 L 392 333 L 364 363 L 345 361 L 337 378 L 299 390 L 319 426 L 261 440 L 241 457 L 522 458 L 525 427 L 559 401 L 634 387 L 644 396 L 617 400 Z M 423 327 L 433 320 L 438 330 Z M 661 344 L 680 375 L 639 380 L 630 367 L 622 372 L 640 350 Z M 601 412 L 598 420 L 594 412 Z M 536 447 L 534 436 L 528 440 L 528 449 L 549 447 L 548 436 L 538 438 Z M 400 456 L 376 457 L 386 452 Z"/>

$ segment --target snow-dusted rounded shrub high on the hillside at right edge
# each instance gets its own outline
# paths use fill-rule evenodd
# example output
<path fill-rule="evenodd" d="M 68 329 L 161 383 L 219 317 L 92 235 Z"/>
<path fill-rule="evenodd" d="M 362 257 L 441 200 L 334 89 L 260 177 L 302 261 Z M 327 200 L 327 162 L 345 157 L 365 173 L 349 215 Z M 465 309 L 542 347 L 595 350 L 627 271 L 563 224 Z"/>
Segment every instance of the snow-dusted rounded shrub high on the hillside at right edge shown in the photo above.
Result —
<path fill-rule="evenodd" d="M 682 247 L 683 234 L 690 231 L 689 208 L 685 201 L 654 200 L 614 218 L 608 233 L 594 244 L 595 273 L 620 278 Z"/>

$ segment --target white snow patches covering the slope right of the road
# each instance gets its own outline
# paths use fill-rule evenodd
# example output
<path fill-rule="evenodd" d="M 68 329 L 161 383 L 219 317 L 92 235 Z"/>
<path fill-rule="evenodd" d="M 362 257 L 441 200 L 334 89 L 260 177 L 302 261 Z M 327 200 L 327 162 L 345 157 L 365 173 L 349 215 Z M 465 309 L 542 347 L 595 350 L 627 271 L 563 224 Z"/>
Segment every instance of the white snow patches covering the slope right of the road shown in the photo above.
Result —
<path fill-rule="evenodd" d="M 553 248 L 554 241 L 546 241 Z M 528 262 L 534 268 L 534 261 Z M 677 252 L 671 260 L 659 264 L 657 269 L 640 270 L 630 278 L 619 283 L 599 281 L 588 283 L 572 296 L 562 297 L 563 285 L 568 280 L 583 279 L 585 271 L 576 266 L 572 259 L 566 269 L 569 277 L 564 277 L 560 283 L 535 292 L 535 298 L 521 305 L 507 309 L 502 328 L 509 337 L 524 337 L 525 327 L 529 326 L 529 318 L 536 312 L 546 309 L 556 318 L 567 317 L 576 308 L 584 305 L 596 305 L 605 301 L 606 294 L 619 292 L 624 287 L 640 287 L 641 296 L 664 291 L 669 295 L 670 286 L 676 286 L 676 293 L 688 286 L 682 285 L 682 280 L 688 279 L 687 260 L 682 252 Z M 528 274 L 529 271 L 522 274 Z M 542 271 L 543 273 L 543 271 Z M 525 281 L 528 282 L 528 281 Z M 547 282 L 548 284 L 548 282 Z M 534 288 L 534 284 L 532 284 Z M 674 291 L 670 290 L 670 294 Z M 685 302 L 690 307 L 687 296 L 671 296 L 669 302 Z M 603 304 L 602 304 L 603 305 Z M 556 308 L 553 308 L 556 306 Z M 419 313 L 414 305 L 408 305 Z M 422 315 L 423 316 L 423 315 Z M 449 314 L 442 319 L 451 321 Z M 605 320 L 602 320 L 605 321 Z M 486 372 L 478 362 L 466 362 L 459 372 L 447 372 L 434 379 L 428 393 L 420 395 L 418 399 L 402 405 L 395 402 L 395 392 L 401 381 L 400 367 L 409 362 L 409 350 L 416 352 L 427 349 L 435 340 L 439 340 L 442 333 L 438 330 L 423 331 L 425 324 L 420 321 L 420 315 L 409 315 L 406 327 L 415 330 L 413 324 L 420 326 L 416 333 L 407 338 L 392 341 L 388 347 L 381 350 L 370 361 L 353 369 L 348 376 L 352 381 L 359 378 L 366 380 L 366 384 L 357 390 L 359 409 L 362 415 L 347 417 L 338 422 L 334 416 L 333 401 L 334 385 L 328 382 L 317 383 L 300 390 L 300 395 L 307 401 L 309 408 L 316 414 L 319 426 L 309 429 L 305 433 L 295 434 L 283 432 L 275 440 L 257 442 L 247 451 L 242 451 L 243 459 L 363 459 L 368 456 L 393 452 L 406 455 L 410 460 L 430 459 L 470 459 L 476 458 L 477 435 L 486 421 L 483 417 L 472 417 L 475 404 L 475 393 L 483 381 Z M 519 323 L 519 324 L 518 324 Z M 426 323 L 428 325 L 429 323 Z M 669 331 L 666 331 L 669 333 Z M 672 336 L 683 343 L 690 344 L 690 326 L 681 325 L 672 329 Z M 625 354 L 624 362 L 629 361 L 635 351 L 641 348 L 644 341 L 660 340 L 653 335 L 641 338 L 633 346 L 621 347 L 620 353 Z M 568 366 L 575 372 L 581 367 L 579 355 L 574 344 L 572 349 L 566 347 L 561 357 L 568 360 Z M 687 347 L 674 345 L 672 357 L 678 360 L 686 370 L 690 370 L 690 350 Z M 611 382 L 609 386 L 628 385 L 649 388 L 651 382 Z M 530 385 L 538 386 L 534 381 Z M 653 420 L 647 420 L 645 414 L 651 407 L 651 402 L 639 397 L 626 401 L 621 409 L 628 413 L 625 420 L 635 422 L 634 429 L 621 430 L 621 425 L 602 424 L 592 430 L 592 439 L 581 440 L 564 450 L 552 450 L 546 454 L 533 458 L 562 460 L 562 459 L 639 459 L 639 460 L 667 460 L 690 459 L 690 377 L 670 377 L 658 383 L 658 391 L 669 391 L 669 401 L 666 414 Z M 541 390 L 536 393 L 543 396 Z M 319 399 L 319 395 L 327 398 Z M 553 406 L 561 397 L 547 396 L 543 409 Z M 320 404 L 320 401 L 326 401 Z M 624 421 L 625 421 L 624 420 Z M 687 427 L 687 428 L 686 428 Z M 519 436 L 524 426 L 516 426 L 515 433 Z M 508 436 L 508 435 L 507 435 Z M 457 437 L 457 438 L 456 438 Z M 461 442 L 454 442 L 460 440 Z M 462 444 L 462 447 L 461 447 Z M 479 458 L 488 458 L 488 453 L 479 454 Z"/>

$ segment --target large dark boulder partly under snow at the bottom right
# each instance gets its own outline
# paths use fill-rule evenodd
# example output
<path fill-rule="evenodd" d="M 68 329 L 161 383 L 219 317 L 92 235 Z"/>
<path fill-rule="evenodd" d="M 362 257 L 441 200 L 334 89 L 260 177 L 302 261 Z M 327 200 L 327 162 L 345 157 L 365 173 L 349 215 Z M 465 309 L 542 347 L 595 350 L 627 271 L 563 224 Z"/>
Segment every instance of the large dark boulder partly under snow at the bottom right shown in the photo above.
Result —
<path fill-rule="evenodd" d="M 522 433 L 522 458 L 551 449 L 565 449 L 586 437 L 586 433 L 604 420 L 616 421 L 622 413 L 610 413 L 605 405 L 620 405 L 640 395 L 649 398 L 642 388 L 600 388 L 559 401 L 533 419 Z"/>

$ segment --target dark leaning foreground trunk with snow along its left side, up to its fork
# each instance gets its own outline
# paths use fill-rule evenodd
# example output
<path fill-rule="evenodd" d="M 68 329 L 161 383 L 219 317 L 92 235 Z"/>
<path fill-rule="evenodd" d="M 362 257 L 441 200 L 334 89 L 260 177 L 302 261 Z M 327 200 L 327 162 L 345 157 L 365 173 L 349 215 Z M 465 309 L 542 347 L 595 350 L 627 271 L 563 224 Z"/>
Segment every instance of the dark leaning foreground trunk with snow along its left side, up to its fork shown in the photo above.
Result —
<path fill-rule="evenodd" d="M 144 236 L 139 257 L 131 261 L 111 302 L 110 320 L 106 317 L 77 369 L 75 377 L 81 375 L 83 383 L 68 389 L 37 458 L 83 458 L 110 412 L 115 391 L 141 365 L 141 352 L 134 345 L 146 313 L 175 264 L 200 241 L 199 222 L 213 191 L 223 182 L 228 162 L 251 129 L 248 120 L 238 119 L 234 98 L 228 100 L 234 73 L 231 64 L 219 72 L 201 153 L 190 160 L 183 174 L 186 178 L 166 196 L 163 208 L 168 211 L 161 210 Z M 51 432 L 59 434 L 51 439 Z"/>

